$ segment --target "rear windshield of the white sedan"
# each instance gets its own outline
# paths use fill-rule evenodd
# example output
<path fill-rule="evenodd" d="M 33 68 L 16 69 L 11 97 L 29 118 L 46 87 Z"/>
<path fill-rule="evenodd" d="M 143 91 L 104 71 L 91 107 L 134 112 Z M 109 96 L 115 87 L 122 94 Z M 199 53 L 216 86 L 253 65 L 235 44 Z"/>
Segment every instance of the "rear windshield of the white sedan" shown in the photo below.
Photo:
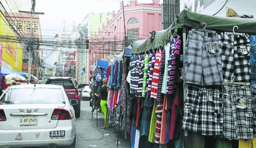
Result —
<path fill-rule="evenodd" d="M 11 88 L 0 104 L 65 104 L 64 94 L 57 88 Z"/>

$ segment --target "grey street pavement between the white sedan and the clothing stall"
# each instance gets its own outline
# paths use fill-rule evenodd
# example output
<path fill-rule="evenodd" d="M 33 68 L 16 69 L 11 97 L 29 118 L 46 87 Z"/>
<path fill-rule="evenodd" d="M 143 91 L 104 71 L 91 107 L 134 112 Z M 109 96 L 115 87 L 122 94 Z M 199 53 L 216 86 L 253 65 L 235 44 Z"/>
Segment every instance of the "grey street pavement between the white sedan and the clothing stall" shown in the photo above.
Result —
<path fill-rule="evenodd" d="M 98 126 L 96 125 L 96 110 L 91 113 L 89 101 L 81 101 L 81 117 L 76 119 L 76 148 L 91 148 L 89 145 L 98 145 L 98 148 L 117 148 L 118 127 L 101 129 L 104 126 L 104 114 L 98 113 Z M 130 148 L 130 142 L 124 138 L 120 129 L 118 148 Z M 104 136 L 109 134 L 109 136 Z"/>

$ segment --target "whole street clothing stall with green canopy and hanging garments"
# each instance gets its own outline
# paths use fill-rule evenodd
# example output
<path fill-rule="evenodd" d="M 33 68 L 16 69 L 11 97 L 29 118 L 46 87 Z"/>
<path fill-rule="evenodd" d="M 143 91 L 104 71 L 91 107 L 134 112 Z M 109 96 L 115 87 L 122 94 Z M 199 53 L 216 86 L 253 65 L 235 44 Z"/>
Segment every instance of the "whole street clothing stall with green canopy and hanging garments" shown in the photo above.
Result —
<path fill-rule="evenodd" d="M 255 24 L 184 10 L 168 29 L 135 41 L 128 64 L 111 66 L 113 73 L 123 66 L 121 87 L 108 75 L 109 122 L 120 122 L 132 148 L 250 145 Z"/>

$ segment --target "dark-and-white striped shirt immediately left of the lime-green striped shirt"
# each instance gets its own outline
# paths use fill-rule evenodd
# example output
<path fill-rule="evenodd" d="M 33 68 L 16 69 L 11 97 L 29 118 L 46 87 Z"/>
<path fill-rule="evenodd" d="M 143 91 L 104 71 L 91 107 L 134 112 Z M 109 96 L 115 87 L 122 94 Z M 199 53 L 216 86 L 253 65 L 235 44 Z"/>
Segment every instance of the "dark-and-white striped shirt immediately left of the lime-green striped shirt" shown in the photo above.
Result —
<path fill-rule="evenodd" d="M 143 77 L 144 77 L 144 56 L 140 58 L 140 73 L 136 97 L 142 97 Z"/>

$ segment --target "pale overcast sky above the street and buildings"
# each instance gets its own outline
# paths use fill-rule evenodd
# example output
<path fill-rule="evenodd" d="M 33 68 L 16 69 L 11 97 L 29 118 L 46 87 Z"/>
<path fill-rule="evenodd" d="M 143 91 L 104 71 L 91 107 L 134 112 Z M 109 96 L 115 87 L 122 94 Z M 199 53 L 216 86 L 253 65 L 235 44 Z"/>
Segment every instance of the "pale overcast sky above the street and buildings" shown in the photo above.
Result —
<path fill-rule="evenodd" d="M 137 0 L 139 3 L 151 3 L 152 0 Z M 161 0 L 162 1 L 162 0 Z M 1 0 L 7 11 L 30 11 L 31 0 Z M 36 0 L 35 12 L 44 12 L 40 15 L 41 35 L 44 40 L 53 40 L 55 34 L 72 31 L 73 25 L 81 23 L 88 13 L 112 13 L 119 10 L 122 0 Z M 124 0 L 127 4 L 129 0 Z M 64 24 L 65 21 L 65 24 Z M 47 49 L 47 48 L 45 48 Z M 44 49 L 44 50 L 45 50 Z M 46 52 L 44 51 L 44 56 Z M 53 56 L 47 58 L 53 64 Z"/>

